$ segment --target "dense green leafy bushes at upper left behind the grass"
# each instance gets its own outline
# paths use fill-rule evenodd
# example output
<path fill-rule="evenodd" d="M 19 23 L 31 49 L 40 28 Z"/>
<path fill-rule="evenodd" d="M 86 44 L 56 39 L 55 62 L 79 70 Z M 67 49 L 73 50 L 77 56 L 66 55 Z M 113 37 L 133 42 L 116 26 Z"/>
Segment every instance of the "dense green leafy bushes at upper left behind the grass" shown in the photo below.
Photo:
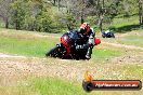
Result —
<path fill-rule="evenodd" d="M 24 3 L 25 2 L 25 3 Z M 48 6 L 50 8 L 50 6 Z M 50 32 L 51 17 L 42 2 L 34 3 L 30 0 L 17 0 L 11 4 L 11 23 L 16 29 L 37 30 Z M 36 11 L 35 13 L 32 11 Z"/>

